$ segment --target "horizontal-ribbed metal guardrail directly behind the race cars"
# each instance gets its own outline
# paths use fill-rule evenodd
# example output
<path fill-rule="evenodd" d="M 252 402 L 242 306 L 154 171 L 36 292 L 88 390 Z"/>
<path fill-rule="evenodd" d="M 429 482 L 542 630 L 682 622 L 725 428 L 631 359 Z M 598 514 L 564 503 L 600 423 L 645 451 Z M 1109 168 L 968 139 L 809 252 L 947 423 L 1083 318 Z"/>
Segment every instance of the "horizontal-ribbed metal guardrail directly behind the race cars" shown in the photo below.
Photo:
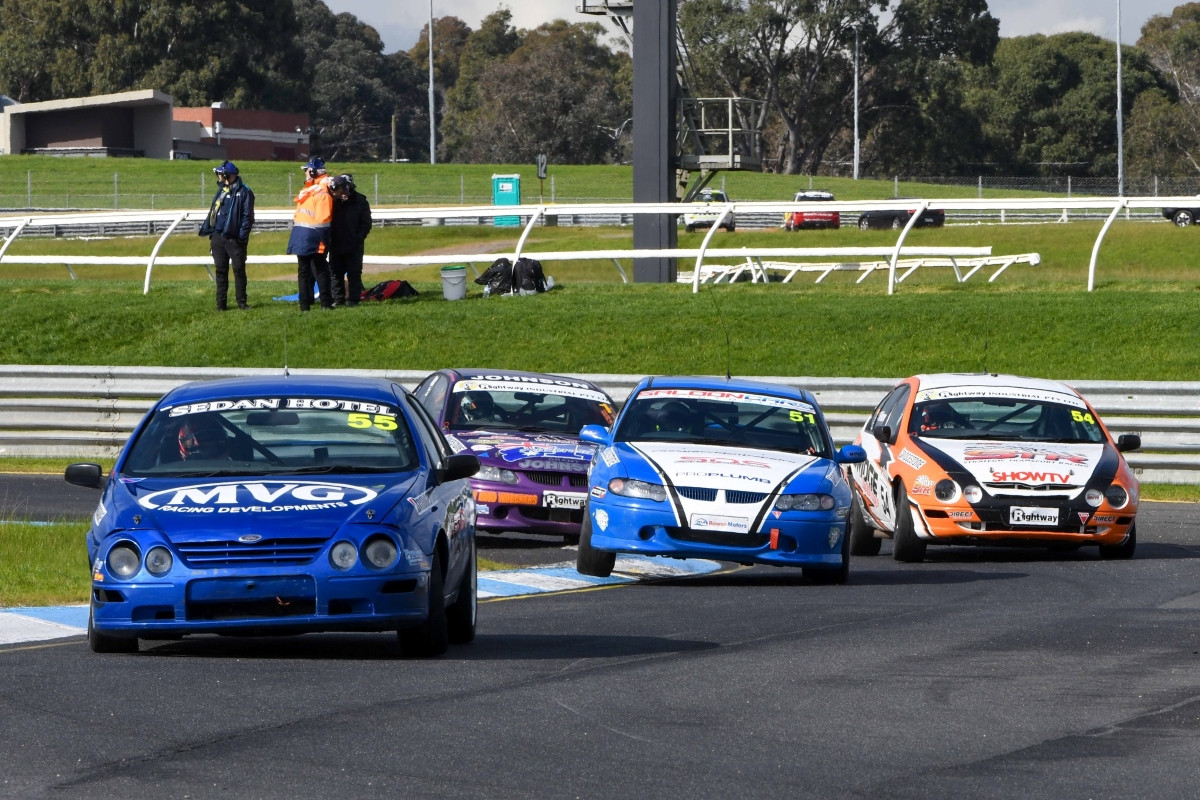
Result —
<path fill-rule="evenodd" d="M 427 373 L 408 369 L 293 369 L 293 374 L 370 375 L 409 389 Z M 282 368 L 61 367 L 0 365 L 0 456 L 115 456 L 158 397 L 191 381 L 281 375 Z M 624 402 L 642 375 L 581 374 Z M 838 444 L 853 440 L 898 380 L 888 378 L 757 378 L 812 391 Z M 1068 381 L 1104 416 L 1114 435 L 1138 433 L 1127 453 L 1144 481 L 1200 483 L 1200 381 Z"/>

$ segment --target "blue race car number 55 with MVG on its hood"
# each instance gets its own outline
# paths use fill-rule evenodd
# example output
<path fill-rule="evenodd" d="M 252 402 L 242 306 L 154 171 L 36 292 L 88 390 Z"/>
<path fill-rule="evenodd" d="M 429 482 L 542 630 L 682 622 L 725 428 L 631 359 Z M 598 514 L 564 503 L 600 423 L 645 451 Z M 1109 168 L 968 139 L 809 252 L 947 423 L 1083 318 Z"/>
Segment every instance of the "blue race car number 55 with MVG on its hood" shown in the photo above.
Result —
<path fill-rule="evenodd" d="M 192 383 L 138 423 L 88 531 L 96 652 L 190 633 L 397 631 L 404 655 L 475 636 L 472 455 L 389 380 Z"/>

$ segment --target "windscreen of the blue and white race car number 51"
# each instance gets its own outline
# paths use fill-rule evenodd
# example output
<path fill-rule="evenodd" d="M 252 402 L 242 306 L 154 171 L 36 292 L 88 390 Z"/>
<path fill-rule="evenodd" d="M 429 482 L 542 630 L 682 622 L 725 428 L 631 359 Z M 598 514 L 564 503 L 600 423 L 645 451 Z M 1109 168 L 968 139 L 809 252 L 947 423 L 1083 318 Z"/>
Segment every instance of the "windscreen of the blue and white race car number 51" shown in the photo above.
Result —
<path fill-rule="evenodd" d="M 702 389 L 646 389 L 616 441 L 676 441 L 832 457 L 814 405 L 790 397 Z"/>

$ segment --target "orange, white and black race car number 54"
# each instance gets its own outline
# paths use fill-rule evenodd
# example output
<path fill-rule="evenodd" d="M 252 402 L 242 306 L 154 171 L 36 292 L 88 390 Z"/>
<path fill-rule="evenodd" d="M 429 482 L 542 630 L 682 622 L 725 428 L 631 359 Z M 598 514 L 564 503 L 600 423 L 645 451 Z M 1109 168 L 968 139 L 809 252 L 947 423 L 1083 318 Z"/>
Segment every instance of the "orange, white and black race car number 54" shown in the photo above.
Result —
<path fill-rule="evenodd" d="M 850 552 L 899 561 L 928 545 L 1098 546 L 1133 555 L 1138 479 L 1096 409 L 1054 380 L 995 374 L 916 375 L 875 407 L 850 468 Z"/>

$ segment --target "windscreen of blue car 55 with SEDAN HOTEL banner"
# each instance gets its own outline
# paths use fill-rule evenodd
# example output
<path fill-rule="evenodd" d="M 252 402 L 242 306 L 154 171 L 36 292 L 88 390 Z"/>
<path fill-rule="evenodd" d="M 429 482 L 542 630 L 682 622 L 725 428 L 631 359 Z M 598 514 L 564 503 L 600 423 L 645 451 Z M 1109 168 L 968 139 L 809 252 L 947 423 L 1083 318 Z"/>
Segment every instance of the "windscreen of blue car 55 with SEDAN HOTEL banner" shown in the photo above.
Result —
<path fill-rule="evenodd" d="M 155 411 L 122 474 L 392 473 L 418 465 L 413 434 L 394 405 L 332 397 L 235 397 Z"/>

